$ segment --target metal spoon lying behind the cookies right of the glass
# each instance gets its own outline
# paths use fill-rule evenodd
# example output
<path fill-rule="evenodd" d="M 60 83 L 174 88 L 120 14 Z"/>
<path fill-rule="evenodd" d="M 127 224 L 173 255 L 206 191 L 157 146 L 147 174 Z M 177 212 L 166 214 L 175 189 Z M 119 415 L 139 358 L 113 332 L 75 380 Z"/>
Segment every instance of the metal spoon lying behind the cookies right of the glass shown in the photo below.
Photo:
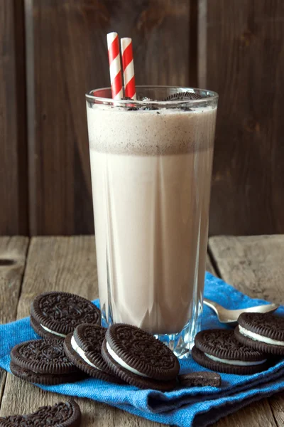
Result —
<path fill-rule="evenodd" d="M 266 304 L 256 305 L 255 307 L 249 308 L 240 308 L 239 310 L 227 310 L 226 308 L 222 307 L 222 305 L 217 304 L 217 302 L 207 300 L 207 298 L 204 298 L 203 302 L 204 304 L 208 305 L 208 307 L 212 308 L 212 310 L 214 310 L 218 316 L 219 322 L 226 323 L 227 325 L 236 324 L 241 313 L 268 313 L 274 312 L 279 307 L 279 304 Z"/>

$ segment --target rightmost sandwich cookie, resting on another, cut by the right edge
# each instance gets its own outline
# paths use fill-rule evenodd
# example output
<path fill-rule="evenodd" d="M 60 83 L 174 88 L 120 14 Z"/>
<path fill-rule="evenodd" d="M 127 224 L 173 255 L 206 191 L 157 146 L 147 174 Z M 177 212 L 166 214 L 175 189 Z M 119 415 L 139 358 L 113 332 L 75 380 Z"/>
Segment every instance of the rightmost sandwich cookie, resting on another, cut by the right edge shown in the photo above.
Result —
<path fill-rule="evenodd" d="M 271 313 L 241 313 L 235 329 L 239 342 L 260 352 L 284 355 L 284 317 Z"/>

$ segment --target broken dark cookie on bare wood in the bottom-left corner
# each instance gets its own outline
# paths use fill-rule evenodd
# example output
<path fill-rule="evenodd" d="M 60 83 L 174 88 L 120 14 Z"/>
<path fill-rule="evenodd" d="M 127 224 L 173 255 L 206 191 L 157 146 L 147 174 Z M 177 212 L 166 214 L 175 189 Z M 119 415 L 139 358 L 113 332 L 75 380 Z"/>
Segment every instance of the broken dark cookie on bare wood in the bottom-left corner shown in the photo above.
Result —
<path fill-rule="evenodd" d="M 27 415 L 0 417 L 0 427 L 79 427 L 81 411 L 75 401 L 60 402 L 53 406 L 41 406 Z"/>

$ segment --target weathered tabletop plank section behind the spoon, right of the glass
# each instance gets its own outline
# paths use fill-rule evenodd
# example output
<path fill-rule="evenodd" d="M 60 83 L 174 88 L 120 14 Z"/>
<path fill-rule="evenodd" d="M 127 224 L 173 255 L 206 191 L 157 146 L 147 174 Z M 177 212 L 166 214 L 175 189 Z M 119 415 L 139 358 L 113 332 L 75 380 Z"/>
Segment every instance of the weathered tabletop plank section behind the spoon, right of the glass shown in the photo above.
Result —
<path fill-rule="evenodd" d="M 209 238 L 209 251 L 224 280 L 253 298 L 284 303 L 284 236 Z"/>

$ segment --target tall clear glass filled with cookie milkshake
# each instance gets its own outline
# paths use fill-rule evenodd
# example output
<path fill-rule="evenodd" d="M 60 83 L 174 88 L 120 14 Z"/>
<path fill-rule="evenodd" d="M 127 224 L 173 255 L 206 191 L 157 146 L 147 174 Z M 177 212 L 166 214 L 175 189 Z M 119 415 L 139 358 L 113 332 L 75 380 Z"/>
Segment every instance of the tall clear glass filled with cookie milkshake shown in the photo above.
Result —
<path fill-rule="evenodd" d="M 102 325 L 136 325 L 183 357 L 200 330 L 218 95 L 136 93 L 86 95 Z"/>

